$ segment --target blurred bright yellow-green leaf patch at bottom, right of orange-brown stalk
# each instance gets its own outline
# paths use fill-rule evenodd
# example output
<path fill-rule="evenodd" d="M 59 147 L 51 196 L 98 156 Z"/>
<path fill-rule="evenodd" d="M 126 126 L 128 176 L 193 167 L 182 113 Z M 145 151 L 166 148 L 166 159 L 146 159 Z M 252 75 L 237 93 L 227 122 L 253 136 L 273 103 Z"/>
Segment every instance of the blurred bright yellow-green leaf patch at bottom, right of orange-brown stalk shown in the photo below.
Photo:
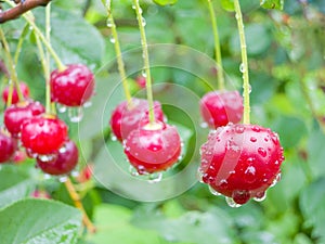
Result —
<path fill-rule="evenodd" d="M 98 231 L 86 237 L 87 243 L 160 244 L 157 233 L 130 223 L 132 211 L 126 207 L 103 204 L 95 208 Z"/>

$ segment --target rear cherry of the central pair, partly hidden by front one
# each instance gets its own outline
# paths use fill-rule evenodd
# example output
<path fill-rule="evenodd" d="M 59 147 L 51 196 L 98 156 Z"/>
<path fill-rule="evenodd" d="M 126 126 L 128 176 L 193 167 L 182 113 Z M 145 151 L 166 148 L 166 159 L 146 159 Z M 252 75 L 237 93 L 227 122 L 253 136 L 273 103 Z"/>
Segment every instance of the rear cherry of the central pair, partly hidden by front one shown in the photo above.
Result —
<path fill-rule="evenodd" d="M 154 102 L 155 118 L 164 121 L 164 113 L 159 102 Z M 141 125 L 148 123 L 148 103 L 144 99 L 132 99 L 132 107 L 128 107 L 128 102 L 123 101 L 113 111 L 110 117 L 110 128 L 115 137 L 122 141 L 129 133 L 138 129 Z"/>

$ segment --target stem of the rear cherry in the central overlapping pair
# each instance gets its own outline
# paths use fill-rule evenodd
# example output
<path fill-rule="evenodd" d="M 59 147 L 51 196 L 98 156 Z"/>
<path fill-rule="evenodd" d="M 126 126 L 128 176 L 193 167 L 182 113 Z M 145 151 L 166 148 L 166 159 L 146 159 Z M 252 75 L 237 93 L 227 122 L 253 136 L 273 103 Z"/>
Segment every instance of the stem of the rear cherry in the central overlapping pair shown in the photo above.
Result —
<path fill-rule="evenodd" d="M 123 91 L 126 94 L 126 99 L 128 101 L 129 107 L 132 107 L 132 97 L 131 92 L 129 89 L 128 80 L 127 80 L 127 75 L 126 75 L 126 68 L 125 68 L 125 62 L 122 60 L 122 54 L 121 54 L 121 49 L 120 49 L 120 43 L 119 43 L 119 38 L 116 29 L 116 24 L 113 17 L 113 13 L 110 11 L 110 1 L 104 1 L 102 0 L 103 4 L 106 7 L 107 10 L 107 27 L 110 28 L 112 30 L 112 38 L 114 42 L 114 48 L 116 52 L 116 59 L 117 59 L 117 66 L 118 66 L 118 72 L 122 81 L 122 87 Z"/>

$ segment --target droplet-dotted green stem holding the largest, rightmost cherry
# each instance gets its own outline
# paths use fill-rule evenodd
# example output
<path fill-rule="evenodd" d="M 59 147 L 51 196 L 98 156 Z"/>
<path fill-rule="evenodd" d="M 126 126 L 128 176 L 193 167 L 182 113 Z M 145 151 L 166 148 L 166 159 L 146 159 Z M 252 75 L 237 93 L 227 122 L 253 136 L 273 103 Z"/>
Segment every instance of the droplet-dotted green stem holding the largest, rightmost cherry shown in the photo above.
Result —
<path fill-rule="evenodd" d="M 243 14 L 238 0 L 234 0 L 236 20 L 238 26 L 238 34 L 240 39 L 240 50 L 242 50 L 242 64 L 240 72 L 243 73 L 244 79 L 244 119 L 243 123 L 248 125 L 250 124 L 250 104 L 249 104 L 249 93 L 250 93 L 250 85 L 249 85 L 249 75 L 248 75 L 248 61 L 247 61 L 247 46 L 245 39 L 244 24 L 243 24 Z"/>

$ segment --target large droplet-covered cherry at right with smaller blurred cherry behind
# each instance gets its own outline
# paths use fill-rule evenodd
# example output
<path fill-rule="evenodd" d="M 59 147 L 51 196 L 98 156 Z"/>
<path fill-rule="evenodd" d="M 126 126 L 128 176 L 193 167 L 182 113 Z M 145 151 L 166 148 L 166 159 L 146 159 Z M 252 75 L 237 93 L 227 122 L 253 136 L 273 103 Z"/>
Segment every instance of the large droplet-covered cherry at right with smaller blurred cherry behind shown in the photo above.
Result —
<path fill-rule="evenodd" d="M 212 91 L 200 100 L 200 113 L 212 129 L 200 147 L 199 180 L 233 207 L 262 201 L 281 177 L 284 160 L 278 136 L 258 125 L 237 124 L 243 116 L 237 91 Z"/>

